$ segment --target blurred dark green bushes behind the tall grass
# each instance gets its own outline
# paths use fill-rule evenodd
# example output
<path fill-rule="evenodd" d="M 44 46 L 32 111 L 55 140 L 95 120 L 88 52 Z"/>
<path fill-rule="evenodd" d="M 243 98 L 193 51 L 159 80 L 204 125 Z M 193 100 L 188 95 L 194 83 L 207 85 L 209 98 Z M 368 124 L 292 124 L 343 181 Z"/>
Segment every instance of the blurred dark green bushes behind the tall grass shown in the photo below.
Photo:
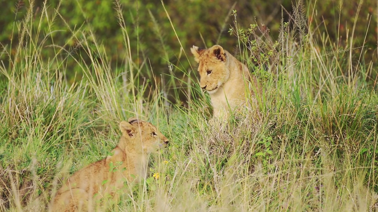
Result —
<path fill-rule="evenodd" d="M 130 39 L 130 51 L 135 66 L 140 67 L 141 76 L 152 79 L 153 74 L 169 74 L 168 64 L 172 63 L 177 69 L 188 70 L 194 60 L 189 48 L 192 45 L 210 47 L 215 44 L 222 45 L 228 51 L 236 54 L 239 41 L 235 35 L 230 35 L 232 10 L 237 10 L 237 22 L 240 28 L 249 28 L 250 24 L 265 25 L 270 29 L 269 37 L 276 40 L 283 17 L 287 22 L 293 14 L 291 0 L 120 0 L 119 1 L 125 22 L 125 29 Z M 347 45 L 346 38 L 352 37 L 354 48 L 366 45 L 362 61 L 376 60 L 377 45 L 377 5 L 375 0 L 305 0 L 303 8 L 307 25 L 313 32 L 324 32 L 325 40 L 330 43 L 339 42 L 339 48 Z M 15 47 L 20 41 L 17 30 L 21 20 L 30 5 L 33 5 L 33 26 L 35 31 L 42 29 L 38 35 L 38 42 L 43 43 L 43 58 L 51 59 L 55 55 L 51 44 L 63 46 L 67 50 L 66 78 L 72 83 L 80 80 L 82 73 L 74 58 L 85 58 L 83 47 L 79 38 L 85 38 L 93 33 L 104 47 L 99 54 L 104 54 L 110 61 L 110 67 L 115 72 L 122 72 L 127 67 L 127 46 L 125 45 L 122 28 L 119 25 L 115 2 L 112 0 L 36 0 L 5 1 L 3 0 L 0 13 L 0 43 L 6 47 L 10 54 L 14 54 Z M 43 4 L 48 6 L 42 11 Z M 282 12 L 283 11 L 283 12 Z M 44 12 L 49 18 L 55 18 L 54 24 L 48 26 L 46 16 L 41 19 Z M 169 14 L 170 20 L 167 16 Z M 357 19 L 357 20 L 356 20 Z M 355 22 L 356 20 L 356 22 Z M 31 22 L 31 21 L 30 21 Z M 355 30 L 353 30 L 353 28 Z M 35 31 L 33 33 L 35 33 Z M 47 32 L 52 36 L 46 36 Z M 76 34 L 75 34 L 76 33 Z M 177 33 L 177 35 L 176 35 Z M 75 37 L 73 37 L 75 34 Z M 318 34 L 318 33 L 317 33 Z M 329 36 L 327 38 L 327 36 Z M 48 39 L 43 41 L 43 38 Z M 341 38 L 341 39 L 340 39 Z M 183 49 L 181 49 L 180 42 Z M 321 40 L 319 38 L 319 40 Z M 365 40 L 365 43 L 364 43 Z M 43 42 L 42 42 L 43 41 Z M 348 41 L 349 42 L 349 41 Z M 94 44 L 93 44 L 94 45 Z M 184 50 L 184 52 L 183 52 Z M 325 49 L 324 51 L 332 51 Z M 371 52 L 371 53 L 370 53 Z M 8 58 L 2 54 L 1 59 L 6 65 Z M 96 55 L 95 55 L 96 57 Z M 187 59 L 188 57 L 189 59 Z M 90 60 L 87 60 L 90 61 Z M 151 70 L 152 69 L 152 70 Z M 74 77 L 76 75 L 76 78 Z"/>

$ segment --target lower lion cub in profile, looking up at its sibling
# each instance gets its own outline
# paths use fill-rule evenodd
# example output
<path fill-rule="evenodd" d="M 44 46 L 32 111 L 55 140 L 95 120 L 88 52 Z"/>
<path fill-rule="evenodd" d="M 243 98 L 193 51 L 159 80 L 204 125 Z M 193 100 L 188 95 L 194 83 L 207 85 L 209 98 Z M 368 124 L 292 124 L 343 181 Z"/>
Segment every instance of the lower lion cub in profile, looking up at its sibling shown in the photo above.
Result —
<path fill-rule="evenodd" d="M 135 180 L 132 175 L 146 177 L 149 153 L 165 147 L 168 139 L 151 123 L 134 117 L 122 121 L 119 128 L 122 137 L 113 155 L 75 172 L 52 198 L 50 211 L 91 211 L 93 195 L 113 196 L 124 181 Z"/>

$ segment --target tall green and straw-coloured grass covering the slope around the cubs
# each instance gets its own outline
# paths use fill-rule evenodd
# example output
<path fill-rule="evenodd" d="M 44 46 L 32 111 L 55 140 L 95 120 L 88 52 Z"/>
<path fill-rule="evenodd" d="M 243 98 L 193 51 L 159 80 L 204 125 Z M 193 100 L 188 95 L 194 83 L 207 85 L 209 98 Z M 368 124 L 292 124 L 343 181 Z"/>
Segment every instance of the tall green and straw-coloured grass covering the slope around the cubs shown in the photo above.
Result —
<path fill-rule="evenodd" d="M 279 74 L 268 76 L 266 93 L 222 123 L 206 118 L 206 96 L 194 99 L 189 110 L 161 106 L 160 90 L 147 102 L 138 67 L 127 60 L 127 77 L 114 74 L 101 45 L 89 41 L 94 35 L 77 40 L 82 54 L 99 59 L 88 56 L 90 65 L 78 59 L 85 77 L 67 84 L 70 56 L 50 46 L 55 57 L 40 58 L 39 31 L 29 27 L 30 17 L 19 26 L 26 45 L 12 55 L 2 51 L 11 65 L 0 66 L 1 210 L 8 199 L 11 211 L 21 210 L 14 194 L 28 182 L 31 199 L 40 192 L 42 202 L 50 198 L 62 178 L 105 157 L 119 138 L 119 121 L 135 115 L 158 124 L 170 147 L 153 160 L 151 171 L 160 178 L 134 192 L 125 188 L 112 211 L 377 210 L 378 98 L 364 79 L 376 70 L 351 68 L 348 51 L 325 56 L 316 32 L 302 42 L 283 34 L 276 52 L 282 62 L 273 70 Z M 322 41 L 323 49 L 338 49 Z M 349 45 L 344 48 L 354 47 Z M 342 77 L 344 72 L 359 74 Z M 196 84 L 192 91 L 201 92 Z"/>

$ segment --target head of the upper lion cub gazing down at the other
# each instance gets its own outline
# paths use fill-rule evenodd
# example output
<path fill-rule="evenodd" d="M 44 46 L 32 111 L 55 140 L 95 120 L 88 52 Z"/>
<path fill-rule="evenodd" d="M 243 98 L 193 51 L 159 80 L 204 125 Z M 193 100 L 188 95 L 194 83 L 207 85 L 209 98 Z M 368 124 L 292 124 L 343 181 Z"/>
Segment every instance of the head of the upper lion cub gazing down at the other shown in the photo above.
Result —
<path fill-rule="evenodd" d="M 191 48 L 195 61 L 199 63 L 200 86 L 209 94 L 214 94 L 230 75 L 226 66 L 226 54 L 222 46 L 215 45 L 209 49 Z"/>

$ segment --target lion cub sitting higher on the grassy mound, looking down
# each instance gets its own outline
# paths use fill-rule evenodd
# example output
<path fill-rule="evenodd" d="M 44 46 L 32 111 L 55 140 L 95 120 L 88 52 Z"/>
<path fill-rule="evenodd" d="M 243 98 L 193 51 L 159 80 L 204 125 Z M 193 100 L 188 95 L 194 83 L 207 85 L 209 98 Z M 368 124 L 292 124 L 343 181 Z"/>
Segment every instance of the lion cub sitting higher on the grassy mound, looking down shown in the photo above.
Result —
<path fill-rule="evenodd" d="M 199 63 L 200 86 L 210 94 L 214 117 L 224 116 L 229 109 L 245 103 L 245 91 L 254 95 L 253 86 L 260 92 L 260 85 L 251 75 L 246 65 L 237 60 L 222 46 L 209 49 L 191 48 L 195 61 Z"/>

